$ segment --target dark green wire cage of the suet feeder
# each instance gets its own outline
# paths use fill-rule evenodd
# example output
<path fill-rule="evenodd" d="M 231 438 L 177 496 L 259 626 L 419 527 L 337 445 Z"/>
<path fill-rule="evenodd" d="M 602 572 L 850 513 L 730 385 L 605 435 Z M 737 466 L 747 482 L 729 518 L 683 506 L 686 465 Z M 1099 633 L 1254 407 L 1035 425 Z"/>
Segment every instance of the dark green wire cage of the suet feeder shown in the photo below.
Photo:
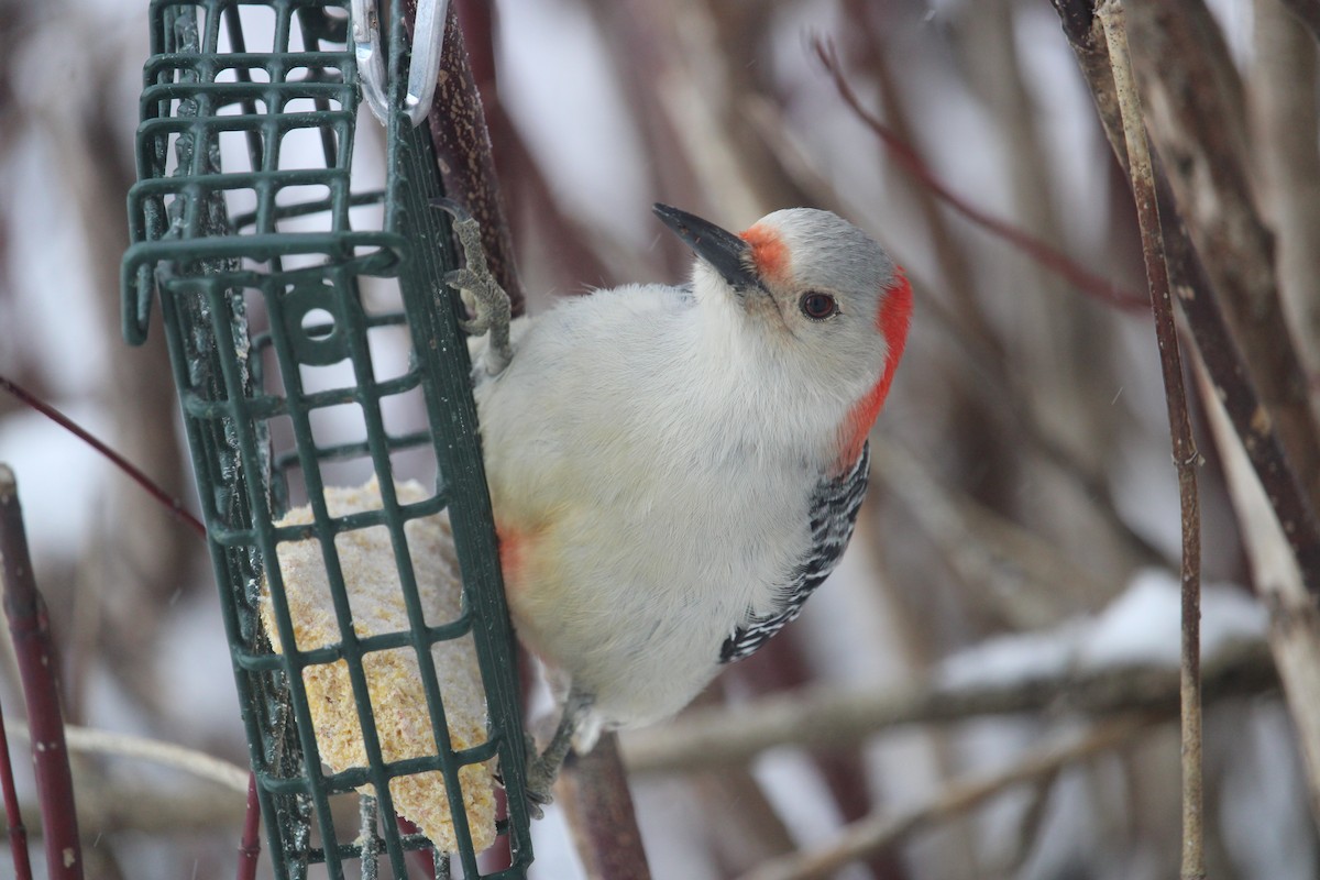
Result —
<path fill-rule="evenodd" d="M 458 303 L 442 296 L 453 267 L 425 127 L 392 113 L 384 193 L 354 194 L 350 165 L 358 84 L 345 3 L 154 0 L 141 96 L 133 244 L 124 256 L 124 334 L 145 339 L 153 292 L 178 385 L 252 765 L 279 877 L 375 876 L 384 856 L 428 850 L 392 821 L 389 780 L 441 772 L 465 877 L 523 877 L 532 860 L 512 636 L 469 387 Z M 391 99 L 403 106 L 404 29 L 389 9 Z M 260 40 L 261 46 L 255 41 Z M 251 44 L 251 45 L 249 45 Z M 364 115 L 370 120 L 370 116 Z M 370 123 L 368 124 L 374 124 Z M 310 157 L 310 160 L 309 160 Z M 374 207 L 375 206 L 375 207 Z M 383 207 L 383 211 L 381 211 Z M 362 216 L 381 228 L 354 230 Z M 370 223 L 367 223 L 370 226 Z M 331 517 L 327 486 L 376 475 L 380 509 Z M 436 487 L 400 504 L 393 479 Z M 290 504 L 313 522 L 277 526 Z M 424 619 L 404 524 L 449 509 L 463 575 L 457 619 Z M 359 637 L 335 536 L 388 529 L 409 629 Z M 300 650 L 276 546 L 314 538 L 330 575 L 341 641 Z M 268 584 L 282 654 L 263 632 Z M 455 753 L 432 645 L 467 639 L 486 691 L 487 741 Z M 383 760 L 363 657 L 411 648 L 420 664 L 434 755 Z M 327 772 L 302 670 L 347 664 L 367 753 Z M 498 757 L 508 794 L 499 822 L 512 867 L 480 873 L 458 768 Z M 335 821 L 359 801 L 363 826 Z M 450 860 L 434 856 L 436 875 Z"/>

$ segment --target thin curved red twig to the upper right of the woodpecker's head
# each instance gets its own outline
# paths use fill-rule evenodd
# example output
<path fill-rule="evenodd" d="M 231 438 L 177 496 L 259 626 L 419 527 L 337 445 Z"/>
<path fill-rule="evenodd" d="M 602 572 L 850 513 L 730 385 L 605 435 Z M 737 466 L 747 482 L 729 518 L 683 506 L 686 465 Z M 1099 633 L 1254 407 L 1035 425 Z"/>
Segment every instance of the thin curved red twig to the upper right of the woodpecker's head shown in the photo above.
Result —
<path fill-rule="evenodd" d="M 935 193 L 949 207 L 987 232 L 1008 241 L 1008 244 L 1014 245 L 1051 272 L 1057 273 L 1068 281 L 1068 284 L 1073 285 L 1082 293 L 1119 309 L 1137 310 L 1146 307 L 1146 297 L 1118 288 L 1107 278 L 1102 278 L 1078 265 L 1077 261 L 1067 253 L 1063 253 L 1057 248 L 1049 245 L 1047 241 L 1041 241 L 1040 239 L 1023 232 L 1014 224 L 982 211 L 945 186 L 944 182 L 936 177 L 935 172 L 932 172 L 931 168 L 921 160 L 921 157 L 916 154 L 916 150 L 903 142 L 888 125 L 862 106 L 862 102 L 858 99 L 853 87 L 849 84 L 847 78 L 843 75 L 843 69 L 840 63 L 838 53 L 834 50 L 834 46 L 824 40 L 816 40 L 814 46 L 817 57 L 834 79 L 834 88 L 838 91 L 843 102 L 853 110 L 857 117 L 861 119 L 862 123 L 865 123 L 873 132 L 875 132 L 876 137 L 879 137 L 880 141 L 883 141 L 890 149 L 894 160 L 904 168 L 908 174 L 915 177 L 923 186 Z"/>

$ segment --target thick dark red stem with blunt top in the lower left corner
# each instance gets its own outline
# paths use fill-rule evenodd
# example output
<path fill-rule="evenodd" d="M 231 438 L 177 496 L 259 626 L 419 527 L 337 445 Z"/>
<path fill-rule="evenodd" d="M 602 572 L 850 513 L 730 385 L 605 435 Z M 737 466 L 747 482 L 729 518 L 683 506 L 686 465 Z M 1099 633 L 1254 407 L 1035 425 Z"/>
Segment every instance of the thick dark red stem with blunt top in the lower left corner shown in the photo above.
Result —
<path fill-rule="evenodd" d="M 37 592 L 28 555 L 18 486 L 5 464 L 0 464 L 0 574 L 22 697 L 28 705 L 48 876 L 50 880 L 82 880 L 74 782 L 59 711 L 58 664 L 50 641 L 46 604 Z"/>

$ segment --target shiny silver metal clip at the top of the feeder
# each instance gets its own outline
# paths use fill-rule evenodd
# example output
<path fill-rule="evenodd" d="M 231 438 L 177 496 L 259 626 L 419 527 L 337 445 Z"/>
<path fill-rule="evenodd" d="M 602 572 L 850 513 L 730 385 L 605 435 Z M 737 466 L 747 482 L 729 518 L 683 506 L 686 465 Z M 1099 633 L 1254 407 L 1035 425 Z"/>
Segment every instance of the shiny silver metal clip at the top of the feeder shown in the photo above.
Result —
<path fill-rule="evenodd" d="M 352 51 L 358 58 L 358 74 L 362 80 L 362 96 L 384 125 L 389 116 L 389 100 L 385 96 L 385 57 L 380 51 L 380 16 L 376 0 L 352 0 Z M 404 110 L 412 124 L 420 125 L 430 110 L 430 99 L 436 94 L 436 77 L 440 74 L 440 53 L 444 47 L 445 18 L 449 15 L 449 0 L 418 0 L 417 17 L 413 21 L 412 63 L 408 69 L 408 94 L 404 95 Z"/>

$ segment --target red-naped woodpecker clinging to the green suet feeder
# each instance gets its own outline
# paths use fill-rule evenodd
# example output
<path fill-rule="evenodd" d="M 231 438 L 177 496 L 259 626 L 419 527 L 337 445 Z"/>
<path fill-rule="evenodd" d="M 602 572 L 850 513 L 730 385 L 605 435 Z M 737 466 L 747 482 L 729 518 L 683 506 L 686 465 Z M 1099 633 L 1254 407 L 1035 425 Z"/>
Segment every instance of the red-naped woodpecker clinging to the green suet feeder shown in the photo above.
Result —
<path fill-rule="evenodd" d="M 535 813 L 570 741 L 669 718 L 797 616 L 851 537 L 907 340 L 903 270 L 840 216 L 788 208 L 734 235 L 655 214 L 696 253 L 689 284 L 519 319 L 511 359 L 478 344 L 510 611 L 564 706 L 529 767 Z"/>

